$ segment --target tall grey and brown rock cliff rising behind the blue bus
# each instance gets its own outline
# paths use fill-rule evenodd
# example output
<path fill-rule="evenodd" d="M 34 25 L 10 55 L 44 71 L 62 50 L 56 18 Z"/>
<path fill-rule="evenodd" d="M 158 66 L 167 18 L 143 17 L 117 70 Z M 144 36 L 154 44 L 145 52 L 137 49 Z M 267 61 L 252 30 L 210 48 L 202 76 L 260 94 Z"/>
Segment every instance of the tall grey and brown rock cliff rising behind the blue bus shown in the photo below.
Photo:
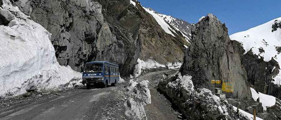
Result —
<path fill-rule="evenodd" d="M 11 1 L 52 33 L 58 62 L 76 71 L 86 62 L 106 60 L 119 64 L 121 74 L 128 76 L 138 58 L 161 64 L 183 61 L 185 38 L 165 33 L 136 1 Z"/>

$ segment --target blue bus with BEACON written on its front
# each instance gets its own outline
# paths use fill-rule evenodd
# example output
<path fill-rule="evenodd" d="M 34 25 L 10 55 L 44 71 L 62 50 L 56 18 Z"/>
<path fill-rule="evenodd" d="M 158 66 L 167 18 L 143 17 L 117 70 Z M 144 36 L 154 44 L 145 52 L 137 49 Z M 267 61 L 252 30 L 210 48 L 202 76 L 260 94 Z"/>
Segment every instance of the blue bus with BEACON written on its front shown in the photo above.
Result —
<path fill-rule="evenodd" d="M 115 86 L 120 78 L 119 67 L 107 61 L 88 62 L 84 67 L 82 78 L 82 84 L 86 84 L 87 89 L 97 84 L 103 87 L 107 87 L 108 84 Z"/>

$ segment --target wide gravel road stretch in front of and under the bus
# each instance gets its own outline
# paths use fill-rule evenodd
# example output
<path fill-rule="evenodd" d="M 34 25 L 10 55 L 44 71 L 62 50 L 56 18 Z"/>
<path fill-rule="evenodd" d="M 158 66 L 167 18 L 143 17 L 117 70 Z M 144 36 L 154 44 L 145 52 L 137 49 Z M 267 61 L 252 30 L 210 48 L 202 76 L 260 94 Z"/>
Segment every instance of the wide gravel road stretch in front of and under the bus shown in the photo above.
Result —
<path fill-rule="evenodd" d="M 107 88 L 70 91 L 22 106 L 0 110 L 1 120 L 125 119 L 121 92 L 123 84 Z"/>

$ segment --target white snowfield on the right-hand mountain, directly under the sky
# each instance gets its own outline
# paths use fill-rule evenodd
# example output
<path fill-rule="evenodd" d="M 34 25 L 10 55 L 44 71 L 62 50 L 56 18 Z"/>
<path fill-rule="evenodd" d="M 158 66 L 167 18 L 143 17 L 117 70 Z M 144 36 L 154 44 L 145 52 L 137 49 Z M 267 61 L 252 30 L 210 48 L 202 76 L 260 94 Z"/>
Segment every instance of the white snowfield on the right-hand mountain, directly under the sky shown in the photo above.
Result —
<path fill-rule="evenodd" d="M 274 58 L 281 65 L 281 29 L 280 18 L 271 20 L 265 24 L 251 28 L 249 30 L 230 35 L 231 40 L 236 40 L 243 44 L 246 52 L 252 49 L 253 53 L 264 57 L 264 61 Z M 278 26 L 279 24 L 279 26 Z M 275 26 L 274 26 L 275 25 Z M 279 27 L 279 28 L 278 28 Z M 275 84 L 281 83 L 281 73 L 275 78 Z"/>

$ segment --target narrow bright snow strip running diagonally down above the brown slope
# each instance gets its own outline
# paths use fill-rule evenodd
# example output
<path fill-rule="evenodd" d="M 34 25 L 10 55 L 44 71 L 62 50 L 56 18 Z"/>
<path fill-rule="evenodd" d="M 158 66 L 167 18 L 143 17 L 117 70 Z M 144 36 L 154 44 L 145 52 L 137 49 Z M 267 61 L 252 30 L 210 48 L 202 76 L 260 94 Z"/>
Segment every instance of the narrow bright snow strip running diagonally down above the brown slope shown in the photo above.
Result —
<path fill-rule="evenodd" d="M 150 11 L 148 8 L 145 8 L 146 12 L 148 12 L 149 14 L 151 14 L 154 19 L 157 21 L 157 23 L 161 26 L 161 28 L 168 34 L 172 35 L 175 37 L 175 35 L 173 33 L 176 33 L 174 29 L 172 29 L 170 27 L 170 25 L 168 23 L 165 22 L 165 20 L 163 18 L 161 18 L 159 15 L 155 14 L 155 11 Z"/>

